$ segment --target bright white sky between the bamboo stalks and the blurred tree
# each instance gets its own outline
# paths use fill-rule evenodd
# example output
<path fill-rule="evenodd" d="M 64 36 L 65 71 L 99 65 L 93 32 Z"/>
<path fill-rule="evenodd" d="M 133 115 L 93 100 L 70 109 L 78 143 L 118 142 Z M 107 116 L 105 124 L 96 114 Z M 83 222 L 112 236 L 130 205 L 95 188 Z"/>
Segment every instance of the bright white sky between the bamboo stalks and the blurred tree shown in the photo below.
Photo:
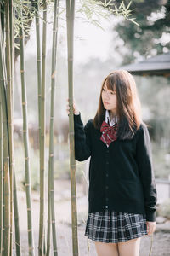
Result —
<path fill-rule="evenodd" d="M 108 14 L 109 15 L 109 14 Z M 48 15 L 48 20 L 50 20 Z M 89 58 L 97 57 L 101 61 L 105 61 L 108 57 L 111 57 L 111 49 L 113 49 L 113 38 L 117 36 L 117 32 L 113 31 L 114 25 L 120 18 L 110 16 L 109 20 L 103 17 L 99 18 L 101 28 L 94 26 L 84 17 L 84 15 L 76 12 L 77 19 L 75 20 L 74 30 L 74 62 L 75 64 L 85 63 L 89 61 Z M 42 23 L 42 22 L 41 22 Z M 42 27 L 41 27 L 42 31 Z M 47 51 L 52 46 L 52 24 L 48 24 L 48 39 L 47 39 Z M 66 38 L 66 23 L 65 12 L 59 18 L 59 36 L 58 36 L 58 50 L 61 55 L 67 58 L 67 38 Z M 122 44 L 122 39 L 119 39 L 119 43 Z M 31 38 L 26 45 L 26 56 L 36 55 L 36 32 L 35 22 L 31 26 Z"/>

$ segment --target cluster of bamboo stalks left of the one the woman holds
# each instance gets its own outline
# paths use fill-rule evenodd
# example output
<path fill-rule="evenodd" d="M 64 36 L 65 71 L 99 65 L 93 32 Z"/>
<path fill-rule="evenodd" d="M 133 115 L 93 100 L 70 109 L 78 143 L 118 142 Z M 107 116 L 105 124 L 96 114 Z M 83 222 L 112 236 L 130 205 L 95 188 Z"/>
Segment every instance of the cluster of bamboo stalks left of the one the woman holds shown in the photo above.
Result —
<path fill-rule="evenodd" d="M 19 32 L 17 35 L 20 43 L 20 80 L 22 95 L 23 118 L 23 147 L 25 152 L 26 172 L 26 205 L 27 205 L 27 234 L 28 254 L 35 255 L 35 245 L 32 226 L 31 207 L 31 170 L 29 153 L 29 134 L 27 118 L 26 96 L 26 61 L 25 61 L 25 36 L 26 15 L 28 1 L 1 1 L 0 2 L 0 255 L 22 255 L 20 243 L 20 219 L 17 201 L 16 177 L 14 173 L 14 19 L 18 19 Z M 39 9 L 42 7 L 42 52 L 39 25 Z M 58 255 L 56 243 L 55 209 L 54 209 L 54 87 L 57 55 L 57 32 L 59 1 L 54 1 L 54 26 L 52 45 L 51 67 L 51 114 L 49 136 L 49 164 L 48 164 L 48 233 L 45 233 L 44 219 L 44 171 L 45 171 L 45 88 L 46 88 L 46 30 L 47 30 L 47 1 L 34 1 L 31 11 L 34 12 L 37 32 L 37 98 L 39 120 L 39 148 L 40 148 L 40 216 L 39 216 L 39 244 L 38 255 L 50 255 L 51 235 L 53 236 L 53 253 Z M 17 9 L 17 10 L 16 10 Z M 14 234 L 13 236 L 13 214 Z M 47 236 L 47 245 L 45 236 Z M 15 239 L 13 241 L 12 239 Z M 15 248 L 13 247 L 15 244 Z M 46 250 L 47 248 L 47 250 Z"/>

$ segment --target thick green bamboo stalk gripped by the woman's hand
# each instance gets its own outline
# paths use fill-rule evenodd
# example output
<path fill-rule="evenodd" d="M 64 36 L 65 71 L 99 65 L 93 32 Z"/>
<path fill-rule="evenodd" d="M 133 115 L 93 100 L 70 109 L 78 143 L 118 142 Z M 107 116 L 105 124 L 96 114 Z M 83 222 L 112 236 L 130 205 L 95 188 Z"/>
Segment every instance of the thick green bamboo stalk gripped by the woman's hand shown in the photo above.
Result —
<path fill-rule="evenodd" d="M 68 84 L 69 84 L 69 138 L 70 138 L 70 171 L 71 171 L 71 223 L 73 256 L 78 256 L 77 237 L 77 180 L 74 152 L 74 119 L 73 119 L 73 42 L 74 42 L 75 0 L 66 0 L 67 46 L 68 46 Z"/>

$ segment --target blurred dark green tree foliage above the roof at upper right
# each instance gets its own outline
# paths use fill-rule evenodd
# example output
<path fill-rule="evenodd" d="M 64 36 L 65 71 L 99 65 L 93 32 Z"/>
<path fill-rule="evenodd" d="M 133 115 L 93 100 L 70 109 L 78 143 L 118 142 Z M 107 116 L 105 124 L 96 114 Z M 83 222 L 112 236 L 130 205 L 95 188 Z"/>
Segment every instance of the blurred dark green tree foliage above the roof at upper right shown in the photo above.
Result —
<path fill-rule="evenodd" d="M 114 3 L 118 3 L 116 0 Z M 125 5 L 128 3 L 124 1 Z M 167 0 L 133 0 L 132 15 L 140 26 L 132 22 L 119 22 L 114 30 L 124 41 L 128 51 L 122 64 L 134 61 L 138 57 L 157 55 L 170 49 L 170 2 Z M 122 46 L 116 50 L 122 53 Z"/>

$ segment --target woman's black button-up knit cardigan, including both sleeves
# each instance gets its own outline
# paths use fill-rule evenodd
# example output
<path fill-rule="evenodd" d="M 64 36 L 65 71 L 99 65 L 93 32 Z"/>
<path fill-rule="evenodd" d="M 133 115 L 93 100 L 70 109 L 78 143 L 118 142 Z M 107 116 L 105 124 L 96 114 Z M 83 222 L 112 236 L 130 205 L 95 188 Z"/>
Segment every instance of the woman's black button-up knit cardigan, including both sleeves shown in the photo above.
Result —
<path fill-rule="evenodd" d="M 156 183 L 144 122 L 132 139 L 116 139 L 109 148 L 100 140 L 102 133 L 94 128 L 93 119 L 84 127 L 81 113 L 74 114 L 74 127 L 76 160 L 91 156 L 88 212 L 133 212 L 156 221 Z"/>

